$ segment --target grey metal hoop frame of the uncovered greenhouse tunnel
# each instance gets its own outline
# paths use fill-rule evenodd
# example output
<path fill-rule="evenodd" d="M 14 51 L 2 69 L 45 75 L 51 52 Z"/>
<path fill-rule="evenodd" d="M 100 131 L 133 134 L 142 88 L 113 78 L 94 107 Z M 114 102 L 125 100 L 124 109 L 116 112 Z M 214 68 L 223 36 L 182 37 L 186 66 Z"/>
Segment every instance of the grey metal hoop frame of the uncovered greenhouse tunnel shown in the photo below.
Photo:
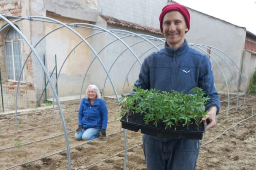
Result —
<path fill-rule="evenodd" d="M 9 19 L 7 19 L 6 17 L 18 18 L 18 19 L 16 19 L 16 20 L 14 20 L 14 21 L 11 22 L 11 21 L 9 21 Z M 112 68 L 113 65 L 114 65 L 114 63 L 116 63 L 116 61 L 118 60 L 118 58 L 119 58 L 120 56 L 122 56 L 122 54 L 123 54 L 125 51 L 127 51 L 127 50 L 129 50 L 129 51 L 132 53 L 132 55 L 135 57 L 135 59 L 136 59 L 136 61 L 133 63 L 133 65 L 131 66 L 131 68 L 129 69 L 129 71 L 128 71 L 127 75 L 126 75 L 126 79 L 125 79 L 125 81 L 124 81 L 123 88 L 122 88 L 122 89 L 124 90 L 124 86 L 125 86 L 125 84 L 126 84 L 126 80 L 128 79 L 128 75 L 129 75 L 130 71 L 132 70 L 133 66 L 135 65 L 135 63 L 139 62 L 139 64 L 141 65 L 142 62 L 140 61 L 140 58 L 141 58 L 146 52 L 150 51 L 151 49 L 154 49 L 154 48 L 155 48 L 156 50 L 159 50 L 158 46 L 163 45 L 164 42 L 165 42 L 165 39 L 157 38 L 157 37 L 151 36 L 151 35 L 135 34 L 135 33 L 133 33 L 133 32 L 129 32 L 129 31 L 126 31 L 126 30 L 119 30 L 119 29 L 107 30 L 107 29 L 104 29 L 104 28 L 102 28 L 102 27 L 99 27 L 99 26 L 96 26 L 96 25 L 93 25 L 93 24 L 87 24 L 87 23 L 65 24 L 65 23 L 62 23 L 62 22 L 60 22 L 60 21 L 58 21 L 58 20 L 56 20 L 56 19 L 49 18 L 49 17 L 41 17 L 41 16 L 17 17 L 17 16 L 1 15 L 1 14 L 0 14 L 0 18 L 3 19 L 3 20 L 7 23 L 3 28 L 0 29 L 0 33 L 1 33 L 4 29 L 6 29 L 6 28 L 8 28 L 8 27 L 10 27 L 10 26 L 13 27 L 13 28 L 22 36 L 22 38 L 26 41 L 27 45 L 28 45 L 28 46 L 30 47 L 30 49 L 31 49 L 31 51 L 28 53 L 27 58 L 26 58 L 26 60 L 25 60 L 25 62 L 24 62 L 24 64 L 23 64 L 23 66 L 22 66 L 22 71 L 23 71 L 23 69 L 24 69 L 24 67 L 25 67 L 25 64 L 26 64 L 26 62 L 27 62 L 27 60 L 28 60 L 28 57 L 29 57 L 29 56 L 31 55 L 31 53 L 33 52 L 34 55 L 36 56 L 38 62 L 40 63 L 40 65 L 41 65 L 41 67 L 42 67 L 44 73 L 46 74 L 46 77 L 47 77 L 47 79 L 48 79 L 48 81 L 49 81 L 49 83 L 50 83 L 50 86 L 51 86 L 52 91 L 53 91 L 53 94 L 54 94 L 53 101 L 54 101 L 54 98 L 56 98 L 57 105 L 58 105 L 59 112 L 60 112 L 60 116 L 61 116 L 61 119 L 62 119 L 64 134 L 65 134 L 65 140 L 66 140 L 67 153 L 68 153 L 68 169 L 71 170 L 71 158 L 70 158 L 70 148 L 69 148 L 69 142 L 68 142 L 68 134 L 67 134 L 67 131 L 66 131 L 66 125 L 65 125 L 65 120 L 64 120 L 64 116 L 63 116 L 62 107 L 61 107 L 61 104 L 60 104 L 58 95 L 57 95 L 57 93 L 56 93 L 56 91 L 55 91 L 56 84 L 57 84 L 57 80 L 58 80 L 58 78 L 59 78 L 60 72 L 61 72 L 61 70 L 62 70 L 62 68 L 63 68 L 63 66 L 64 66 L 64 63 L 66 62 L 67 58 L 68 58 L 68 57 L 70 56 L 70 54 L 76 49 L 76 47 L 78 47 L 82 42 L 84 42 L 84 43 L 89 47 L 89 49 L 92 51 L 92 53 L 94 53 L 94 55 L 95 55 L 94 59 L 91 61 L 89 67 L 87 68 L 87 71 L 86 71 L 86 73 L 85 73 L 84 79 L 83 79 L 83 81 L 82 81 L 82 86 L 81 86 L 81 91 L 80 91 L 80 101 L 81 101 L 81 94 L 82 94 L 82 89 L 83 89 L 85 77 L 86 77 L 86 75 L 87 75 L 88 70 L 90 69 L 91 65 L 93 64 L 93 62 L 94 62 L 94 60 L 95 60 L 96 58 L 97 58 L 98 61 L 101 63 L 102 68 L 105 70 L 105 73 L 107 74 L 107 76 L 106 76 L 106 78 L 105 78 L 105 81 L 104 81 L 103 94 L 104 94 L 104 91 L 105 91 L 105 85 L 106 85 L 106 81 L 107 81 L 107 78 L 108 78 L 108 79 L 110 80 L 110 83 L 111 83 L 112 88 L 113 88 L 113 90 L 114 90 L 114 93 L 115 93 L 115 95 L 116 95 L 116 99 L 117 99 L 117 101 L 119 101 L 118 93 L 117 93 L 117 91 L 116 91 L 116 88 L 115 88 L 115 86 L 114 86 L 114 83 L 113 83 L 113 81 L 112 81 L 112 79 L 111 79 L 111 76 L 110 76 L 110 74 L 109 74 L 110 71 L 111 71 L 111 68 Z M 47 22 L 47 23 L 60 24 L 61 26 L 58 27 L 58 28 L 55 28 L 55 29 L 51 30 L 50 32 L 48 32 L 46 35 L 44 35 L 44 36 L 36 43 L 35 46 L 32 46 L 32 44 L 30 43 L 30 41 L 28 41 L 28 39 L 26 38 L 26 36 L 23 35 L 22 32 L 14 25 L 14 23 L 19 22 L 19 21 L 22 21 L 23 19 L 27 19 L 28 21 L 39 21 L 39 22 Z M 72 26 L 72 27 L 80 27 L 80 28 L 98 30 L 98 32 L 93 33 L 93 34 L 87 36 L 86 38 L 84 38 L 84 37 L 82 37 L 78 32 L 76 32 L 73 28 L 71 28 L 71 26 Z M 66 56 L 64 62 L 62 63 L 62 66 L 60 67 L 60 70 L 59 70 L 59 73 L 58 73 L 58 77 L 56 78 L 56 83 L 55 83 L 55 86 L 54 86 L 52 80 L 50 79 L 50 75 L 48 74 L 48 71 L 47 71 L 46 67 L 44 66 L 44 64 L 43 64 L 43 62 L 42 62 L 42 60 L 41 60 L 41 58 L 39 57 L 37 51 L 35 50 L 35 47 L 36 47 L 44 38 L 46 38 L 48 35 L 50 35 L 51 33 L 55 32 L 56 30 L 61 29 L 61 28 L 68 28 L 71 32 L 75 33 L 75 34 L 81 39 L 81 41 L 80 41 L 80 42 L 69 52 L 69 54 Z M 111 36 L 113 36 L 114 38 L 116 38 L 116 40 L 113 40 L 112 42 L 109 42 L 107 45 L 105 45 L 105 46 L 100 50 L 100 52 L 97 53 L 97 52 L 94 50 L 94 48 L 90 45 L 90 43 L 86 41 L 86 39 L 91 38 L 92 36 L 97 35 L 97 34 L 101 34 L 101 33 L 108 33 L 108 34 L 110 34 Z M 124 36 L 121 37 L 121 38 L 119 38 L 116 34 L 123 34 Z M 122 40 L 122 39 L 127 38 L 127 37 L 135 37 L 135 38 L 140 38 L 140 39 L 142 39 L 142 40 L 137 41 L 137 42 L 135 42 L 134 44 L 132 44 L 132 45 L 129 46 L 128 44 L 126 44 L 125 41 Z M 154 44 L 153 42 L 151 42 L 150 40 L 160 41 L 161 43 L 158 44 L 158 45 L 155 45 L 155 44 Z M 126 49 L 125 49 L 123 52 L 121 52 L 121 53 L 117 56 L 117 58 L 116 58 L 116 59 L 114 60 L 114 62 L 112 63 L 110 69 L 107 70 L 106 67 L 105 67 L 105 64 L 102 62 L 102 60 L 101 60 L 99 54 L 100 54 L 104 49 L 106 49 L 109 45 L 111 45 L 113 42 L 116 42 L 116 41 L 121 42 L 124 46 L 126 46 Z M 140 42 L 148 42 L 148 44 L 152 45 L 153 47 L 149 48 L 149 49 L 146 50 L 142 55 L 140 55 L 140 56 L 138 57 L 138 56 L 135 54 L 135 52 L 131 49 L 131 47 L 132 47 L 132 46 L 135 46 L 135 45 L 137 45 L 137 44 L 139 44 Z M 243 85 L 244 85 L 244 89 L 245 89 L 244 78 L 242 77 L 242 74 L 241 74 L 241 72 L 240 72 L 238 66 L 235 64 L 235 62 L 234 62 L 228 55 L 226 55 L 226 53 L 224 53 L 223 51 L 221 51 L 221 50 L 219 50 L 219 49 L 217 49 L 217 48 L 215 48 L 215 47 L 210 47 L 210 46 L 207 46 L 207 45 L 199 45 L 199 44 L 189 44 L 189 45 L 190 45 L 190 46 L 194 46 L 194 47 L 196 47 L 196 48 L 202 50 L 202 51 L 205 52 L 205 53 L 207 53 L 207 51 L 205 51 L 205 50 L 202 49 L 201 47 L 203 47 L 203 48 L 205 48 L 205 49 L 208 49 L 208 50 L 211 50 L 211 51 L 213 51 L 212 49 L 215 49 L 215 50 L 217 50 L 217 51 L 223 53 L 226 57 L 228 57 L 228 58 L 233 62 L 233 64 L 235 65 L 235 67 L 238 69 L 239 74 L 240 74 L 241 79 L 242 79 L 242 83 L 243 83 Z M 212 48 L 212 49 L 210 49 L 210 48 Z M 220 57 L 220 59 L 221 59 L 222 61 L 224 61 L 224 59 L 223 59 L 217 52 L 215 52 L 215 51 L 213 51 L 213 52 L 214 52 L 218 57 Z M 207 54 L 208 54 L 208 53 L 207 53 Z M 208 55 L 210 55 L 210 54 L 208 54 Z M 226 114 L 226 115 L 228 116 L 229 102 L 230 102 L 228 83 L 227 83 L 227 81 L 226 81 L 226 78 L 225 78 L 225 75 L 224 75 L 224 73 L 223 73 L 223 71 L 222 71 L 222 68 L 219 66 L 218 62 L 217 62 L 212 56 L 211 56 L 211 58 L 212 58 L 212 60 L 217 64 L 217 66 L 218 66 L 218 68 L 220 69 L 220 71 L 221 71 L 221 73 L 222 73 L 222 75 L 223 75 L 223 78 L 224 78 L 224 80 L 225 80 L 225 84 L 226 84 L 227 91 L 228 91 L 228 109 L 227 109 L 227 114 Z M 229 69 L 230 72 L 231 72 L 231 69 L 230 69 L 230 67 L 228 66 L 228 64 L 227 64 L 225 61 L 224 61 L 224 63 L 225 63 L 225 65 L 228 67 L 228 69 Z M 22 71 L 21 71 L 21 74 L 22 74 Z M 20 74 L 20 76 L 19 76 L 18 83 L 17 83 L 17 89 L 16 89 L 15 123 L 17 123 L 17 96 L 18 96 L 18 86 L 19 86 L 21 74 Z M 234 79 L 234 81 L 235 81 L 236 92 L 237 92 L 237 95 L 238 95 L 237 105 L 236 105 L 236 109 L 237 109 L 237 108 L 238 108 L 238 103 L 239 103 L 239 89 L 238 89 L 238 83 L 237 83 L 237 81 L 236 81 L 236 79 L 235 79 L 235 77 L 234 77 L 234 74 L 233 74 L 232 72 L 231 72 L 231 74 L 232 74 L 232 77 L 233 77 L 233 79 Z M 123 90 L 122 90 L 122 93 L 124 93 Z M 246 89 L 245 89 L 245 91 L 246 91 Z M 246 99 L 246 93 L 245 93 L 245 91 L 244 91 L 244 106 L 245 106 L 245 99 Z M 53 107 L 53 117 L 54 117 L 54 107 Z M 126 130 L 125 130 L 125 129 L 124 129 L 124 141 L 125 141 L 124 143 L 125 143 L 125 150 L 126 150 L 126 152 L 125 152 L 125 154 L 124 154 L 124 170 L 126 170 L 126 162 L 127 162 L 127 137 L 126 137 Z"/>

